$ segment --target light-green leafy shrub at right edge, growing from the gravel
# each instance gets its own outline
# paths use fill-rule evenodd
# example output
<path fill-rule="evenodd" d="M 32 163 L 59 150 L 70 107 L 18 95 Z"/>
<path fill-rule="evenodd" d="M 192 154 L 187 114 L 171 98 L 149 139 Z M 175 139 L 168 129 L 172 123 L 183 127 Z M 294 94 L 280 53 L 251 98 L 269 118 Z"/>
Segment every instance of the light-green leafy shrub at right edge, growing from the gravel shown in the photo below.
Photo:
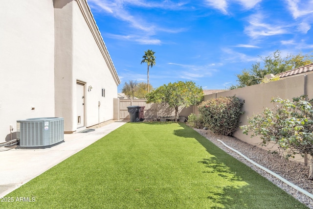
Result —
<path fill-rule="evenodd" d="M 244 134 L 253 132 L 251 138 L 259 136 L 263 144 L 270 141 L 278 144 L 294 157 L 294 154 L 313 157 L 313 100 L 306 95 L 288 99 L 273 98 L 273 110 L 265 108 L 261 115 L 248 118 L 249 125 L 241 126 Z M 276 105 L 278 103 L 278 105 Z M 313 180 L 313 163 L 311 158 L 309 179 Z"/>

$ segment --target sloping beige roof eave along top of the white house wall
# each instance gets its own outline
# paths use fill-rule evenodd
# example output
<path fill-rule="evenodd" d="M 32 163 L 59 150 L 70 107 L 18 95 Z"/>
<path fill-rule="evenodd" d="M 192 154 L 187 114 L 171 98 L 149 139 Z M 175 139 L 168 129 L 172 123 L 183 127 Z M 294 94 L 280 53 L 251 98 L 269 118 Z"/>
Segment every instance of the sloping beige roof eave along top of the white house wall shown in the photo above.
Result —
<path fill-rule="evenodd" d="M 117 75 L 117 71 L 114 67 L 114 64 L 112 62 L 111 56 L 109 54 L 109 51 L 103 41 L 103 38 L 101 36 L 101 33 L 99 31 L 99 28 L 97 26 L 96 21 L 93 18 L 93 15 L 91 13 L 90 7 L 87 3 L 87 0 L 76 0 L 78 3 L 78 6 L 80 8 L 80 10 L 82 11 L 82 14 L 90 28 L 90 31 L 102 53 L 103 58 L 105 59 L 106 63 L 108 64 L 108 68 L 112 73 L 112 76 L 114 78 L 114 81 L 116 83 L 116 85 L 119 85 L 121 83 L 118 75 Z"/>

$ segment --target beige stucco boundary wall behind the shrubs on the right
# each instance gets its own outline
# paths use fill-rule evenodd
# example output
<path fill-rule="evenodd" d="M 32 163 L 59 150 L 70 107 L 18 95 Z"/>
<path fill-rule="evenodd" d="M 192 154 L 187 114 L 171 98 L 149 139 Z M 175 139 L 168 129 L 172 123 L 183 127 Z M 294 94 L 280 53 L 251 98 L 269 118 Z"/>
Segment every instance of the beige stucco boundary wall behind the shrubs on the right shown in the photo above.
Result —
<path fill-rule="evenodd" d="M 313 98 L 313 73 L 300 74 L 269 83 L 205 95 L 204 101 L 221 96 L 233 96 L 234 94 L 241 100 L 245 100 L 243 106 L 245 113 L 240 117 L 242 122 L 240 125 L 248 125 L 247 117 L 251 117 L 253 114 L 261 114 L 264 107 L 273 107 L 273 103 L 270 102 L 273 97 L 279 96 L 282 99 L 292 101 L 292 97 L 307 94 L 310 99 Z M 199 114 L 199 111 L 195 110 L 195 114 Z M 261 142 L 261 139 L 251 139 L 250 135 L 243 134 L 242 129 L 235 131 L 233 136 L 253 145 Z M 267 149 L 264 146 L 262 148 Z"/>

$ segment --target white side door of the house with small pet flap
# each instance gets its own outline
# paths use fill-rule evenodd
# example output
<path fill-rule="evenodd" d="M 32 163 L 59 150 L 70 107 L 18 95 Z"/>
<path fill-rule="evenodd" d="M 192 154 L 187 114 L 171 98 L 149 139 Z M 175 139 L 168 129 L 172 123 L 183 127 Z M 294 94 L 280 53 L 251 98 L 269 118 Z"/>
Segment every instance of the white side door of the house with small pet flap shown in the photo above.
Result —
<path fill-rule="evenodd" d="M 85 84 L 76 82 L 77 128 L 85 126 Z"/>

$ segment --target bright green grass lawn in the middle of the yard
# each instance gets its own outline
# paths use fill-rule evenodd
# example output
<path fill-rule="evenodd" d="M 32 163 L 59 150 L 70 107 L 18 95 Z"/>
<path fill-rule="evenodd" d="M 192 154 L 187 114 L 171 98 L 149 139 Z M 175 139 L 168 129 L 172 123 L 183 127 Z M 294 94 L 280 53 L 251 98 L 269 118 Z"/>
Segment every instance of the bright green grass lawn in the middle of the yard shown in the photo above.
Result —
<path fill-rule="evenodd" d="M 0 208 L 306 208 L 192 128 L 170 122 L 127 123 L 6 197 L 35 202 Z"/>

